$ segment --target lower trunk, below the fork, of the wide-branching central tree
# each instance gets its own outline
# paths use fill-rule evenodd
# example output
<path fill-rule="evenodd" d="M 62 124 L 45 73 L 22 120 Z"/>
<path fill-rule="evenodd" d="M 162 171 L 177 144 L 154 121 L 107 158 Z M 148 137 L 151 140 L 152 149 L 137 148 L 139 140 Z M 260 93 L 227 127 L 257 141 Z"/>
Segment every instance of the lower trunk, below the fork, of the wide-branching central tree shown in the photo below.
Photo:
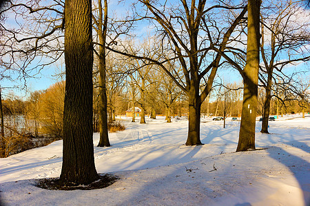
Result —
<path fill-rule="evenodd" d="M 189 93 L 188 135 L 185 145 L 201 145 L 200 141 L 200 97 L 198 89 Z"/>

